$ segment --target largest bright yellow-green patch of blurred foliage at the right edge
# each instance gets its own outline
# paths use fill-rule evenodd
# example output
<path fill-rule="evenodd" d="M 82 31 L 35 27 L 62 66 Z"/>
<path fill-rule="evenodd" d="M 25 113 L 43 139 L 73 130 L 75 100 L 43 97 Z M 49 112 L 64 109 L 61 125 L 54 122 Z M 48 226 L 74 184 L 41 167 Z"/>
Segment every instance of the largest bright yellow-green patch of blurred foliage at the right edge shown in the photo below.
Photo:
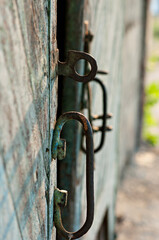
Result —
<path fill-rule="evenodd" d="M 145 90 L 145 105 L 144 105 L 144 124 L 143 124 L 143 139 L 151 145 L 159 144 L 159 136 L 150 133 L 149 128 L 156 126 L 157 121 L 152 116 L 151 110 L 159 102 L 159 83 L 153 82 L 146 87 Z"/>

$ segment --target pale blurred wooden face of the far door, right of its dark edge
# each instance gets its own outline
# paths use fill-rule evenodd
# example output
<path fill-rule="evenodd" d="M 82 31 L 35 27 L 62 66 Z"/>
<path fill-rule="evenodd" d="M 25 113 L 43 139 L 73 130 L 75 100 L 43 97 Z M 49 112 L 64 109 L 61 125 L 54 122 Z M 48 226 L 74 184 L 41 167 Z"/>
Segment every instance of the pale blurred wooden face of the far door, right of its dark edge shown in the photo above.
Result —
<path fill-rule="evenodd" d="M 98 2 L 99 3 L 99 2 Z M 108 70 L 101 77 L 108 90 L 108 109 L 113 113 L 105 147 L 95 156 L 95 221 L 84 239 L 96 239 L 106 210 L 109 209 L 109 239 L 114 239 L 114 204 L 118 176 L 131 158 L 136 144 L 140 98 L 143 1 L 89 1 L 90 28 L 94 33 L 92 55 L 98 66 Z M 87 17 L 87 15 L 86 15 Z M 102 111 L 100 89 L 93 88 L 93 112 Z M 95 144 L 99 136 L 94 138 Z M 81 160 L 80 160 L 81 161 Z M 84 201 L 82 200 L 82 209 Z"/>

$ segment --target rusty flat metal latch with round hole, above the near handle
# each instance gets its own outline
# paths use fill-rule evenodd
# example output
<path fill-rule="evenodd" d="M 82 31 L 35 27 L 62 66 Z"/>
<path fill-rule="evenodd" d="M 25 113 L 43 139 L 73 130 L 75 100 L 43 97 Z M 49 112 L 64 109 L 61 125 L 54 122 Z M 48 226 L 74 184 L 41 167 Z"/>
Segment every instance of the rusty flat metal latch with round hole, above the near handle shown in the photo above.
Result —
<path fill-rule="evenodd" d="M 88 74 L 81 76 L 76 72 L 75 66 L 76 63 L 84 59 L 86 62 L 90 63 L 91 70 Z M 58 75 L 66 76 L 73 78 L 75 81 L 78 82 L 89 82 L 91 81 L 97 72 L 97 63 L 96 60 L 88 53 L 85 52 L 79 52 L 75 50 L 70 50 L 67 53 L 67 59 L 66 62 L 60 62 L 58 61 Z"/>

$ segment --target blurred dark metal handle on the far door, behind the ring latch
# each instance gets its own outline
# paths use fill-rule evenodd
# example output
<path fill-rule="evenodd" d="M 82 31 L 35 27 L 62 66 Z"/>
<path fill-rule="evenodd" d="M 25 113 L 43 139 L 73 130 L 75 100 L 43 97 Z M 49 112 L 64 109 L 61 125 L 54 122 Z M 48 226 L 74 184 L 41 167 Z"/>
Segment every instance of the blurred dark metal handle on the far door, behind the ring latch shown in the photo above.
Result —
<path fill-rule="evenodd" d="M 105 138 L 106 138 L 106 131 L 111 131 L 112 130 L 112 127 L 111 126 L 107 126 L 107 119 L 108 118 L 111 118 L 112 115 L 111 114 L 108 114 L 107 113 L 107 90 L 106 90 L 106 87 L 104 86 L 104 84 L 102 83 L 102 81 L 98 78 L 94 78 L 92 81 L 95 81 L 97 82 L 101 88 L 102 88 L 102 92 L 103 92 L 103 115 L 95 115 L 95 116 L 92 116 L 92 113 L 91 113 L 91 90 L 90 90 L 90 86 L 89 84 L 87 84 L 87 92 L 88 92 L 88 114 L 89 114 L 89 120 L 90 120 L 90 123 L 92 125 L 92 129 L 93 129 L 93 132 L 96 133 L 96 132 L 101 132 L 101 140 L 100 140 L 100 143 L 98 145 L 97 148 L 94 149 L 94 153 L 98 152 L 104 142 L 105 142 Z M 102 126 L 100 127 L 96 127 L 96 126 L 93 126 L 93 121 L 94 120 L 98 120 L 98 119 L 102 119 Z M 83 141 L 82 141 L 82 150 L 84 152 L 86 152 L 86 149 L 84 148 L 83 146 Z"/>

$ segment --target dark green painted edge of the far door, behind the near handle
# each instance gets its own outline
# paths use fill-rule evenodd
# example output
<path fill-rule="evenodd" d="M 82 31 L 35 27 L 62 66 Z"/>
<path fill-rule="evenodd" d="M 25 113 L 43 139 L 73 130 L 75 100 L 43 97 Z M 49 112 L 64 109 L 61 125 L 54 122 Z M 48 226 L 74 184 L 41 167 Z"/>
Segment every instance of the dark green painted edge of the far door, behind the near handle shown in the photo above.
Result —
<path fill-rule="evenodd" d="M 64 8 L 64 3 L 61 2 L 59 8 Z M 62 46 L 59 46 L 61 51 L 64 48 L 64 58 L 67 55 L 68 50 L 83 50 L 83 19 L 84 19 L 84 1 L 74 0 L 66 1 L 65 18 L 63 15 L 60 19 L 58 28 L 62 28 L 65 31 L 65 38 L 62 41 Z M 77 27 L 78 26 L 78 27 Z M 61 39 L 59 39 L 61 41 Z M 83 66 L 79 66 L 79 71 L 82 73 Z M 82 83 L 75 82 L 69 78 L 63 78 L 62 80 L 62 94 L 61 94 L 61 113 L 67 111 L 80 111 L 81 107 L 81 92 Z M 75 202 L 75 186 L 76 186 L 76 164 L 80 149 L 80 128 L 79 123 L 76 121 L 70 121 L 65 124 L 62 136 L 67 142 L 67 155 L 62 161 L 58 161 L 58 182 L 57 185 L 60 189 L 66 189 L 69 192 L 68 204 L 63 212 L 64 226 L 69 231 L 77 230 L 76 226 L 72 224 L 74 222 L 74 216 L 76 211 Z M 59 240 L 63 238 L 58 236 Z"/>

